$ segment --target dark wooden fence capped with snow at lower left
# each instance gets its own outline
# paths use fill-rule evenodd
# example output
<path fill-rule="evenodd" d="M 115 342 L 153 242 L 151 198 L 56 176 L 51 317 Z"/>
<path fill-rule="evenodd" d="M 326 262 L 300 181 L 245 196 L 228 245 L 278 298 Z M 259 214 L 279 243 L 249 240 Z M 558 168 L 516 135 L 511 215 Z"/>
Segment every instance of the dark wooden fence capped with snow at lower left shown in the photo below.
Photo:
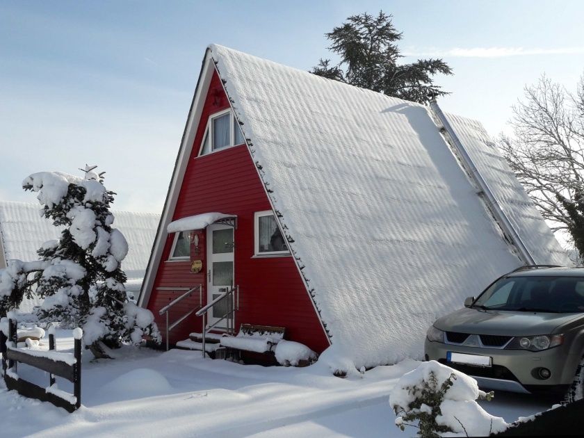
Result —
<path fill-rule="evenodd" d="M 15 389 L 18 394 L 37 398 L 74 412 L 81 406 L 81 329 L 73 330 L 75 338 L 74 353 L 57 352 L 55 335 L 49 333 L 49 351 L 17 348 L 16 321 L 8 320 L 8 337 L 0 330 L 0 352 L 2 353 L 2 373 L 8 390 Z M 39 387 L 22 380 L 17 374 L 17 364 L 26 364 L 49 373 L 49 386 Z M 55 376 L 73 383 L 73 394 L 58 389 Z"/>

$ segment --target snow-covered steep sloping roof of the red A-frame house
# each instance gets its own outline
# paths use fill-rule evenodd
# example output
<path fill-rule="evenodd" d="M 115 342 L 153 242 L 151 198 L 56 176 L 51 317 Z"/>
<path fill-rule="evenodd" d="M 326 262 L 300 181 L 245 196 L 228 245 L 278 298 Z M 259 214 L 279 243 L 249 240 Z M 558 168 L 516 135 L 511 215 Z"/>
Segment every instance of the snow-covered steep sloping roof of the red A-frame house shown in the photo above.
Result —
<path fill-rule="evenodd" d="M 435 318 L 523 264 L 425 106 L 218 45 L 209 55 L 339 357 L 420 357 Z M 535 261 L 568 264 L 480 124 L 451 118 Z"/>

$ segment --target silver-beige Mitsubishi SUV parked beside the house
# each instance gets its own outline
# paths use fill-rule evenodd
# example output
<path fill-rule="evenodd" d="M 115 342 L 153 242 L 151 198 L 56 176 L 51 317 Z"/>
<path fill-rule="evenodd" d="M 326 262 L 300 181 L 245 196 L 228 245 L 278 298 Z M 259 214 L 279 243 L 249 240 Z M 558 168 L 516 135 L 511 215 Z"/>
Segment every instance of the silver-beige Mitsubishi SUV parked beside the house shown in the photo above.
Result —
<path fill-rule="evenodd" d="M 489 389 L 582 398 L 584 269 L 525 266 L 428 330 L 425 359 Z"/>

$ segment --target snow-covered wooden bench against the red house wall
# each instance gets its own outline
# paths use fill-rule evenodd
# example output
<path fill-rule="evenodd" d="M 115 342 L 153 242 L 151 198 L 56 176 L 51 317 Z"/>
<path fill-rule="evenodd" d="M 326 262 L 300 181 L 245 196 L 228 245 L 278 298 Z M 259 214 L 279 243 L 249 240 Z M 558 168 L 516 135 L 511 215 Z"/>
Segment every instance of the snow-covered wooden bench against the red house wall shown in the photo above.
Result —
<path fill-rule="evenodd" d="M 257 353 L 272 353 L 279 341 L 284 339 L 286 329 L 270 325 L 242 324 L 236 336 L 223 336 L 222 347 Z"/>

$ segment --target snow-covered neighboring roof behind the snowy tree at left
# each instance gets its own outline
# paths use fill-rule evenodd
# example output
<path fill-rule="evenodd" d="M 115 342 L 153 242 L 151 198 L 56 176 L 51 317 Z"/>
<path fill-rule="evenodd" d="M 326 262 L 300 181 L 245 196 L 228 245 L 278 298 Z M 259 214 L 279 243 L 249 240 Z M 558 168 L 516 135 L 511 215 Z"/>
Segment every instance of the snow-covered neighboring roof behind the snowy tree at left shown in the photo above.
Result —
<path fill-rule="evenodd" d="M 36 251 L 46 241 L 59 238 L 61 228 L 40 216 L 40 205 L 0 201 L 0 239 L 6 260 L 37 260 Z M 129 243 L 122 268 L 129 279 L 143 279 L 160 216 L 153 213 L 113 211 L 112 227 Z M 134 288 L 136 289 L 136 288 Z"/>

